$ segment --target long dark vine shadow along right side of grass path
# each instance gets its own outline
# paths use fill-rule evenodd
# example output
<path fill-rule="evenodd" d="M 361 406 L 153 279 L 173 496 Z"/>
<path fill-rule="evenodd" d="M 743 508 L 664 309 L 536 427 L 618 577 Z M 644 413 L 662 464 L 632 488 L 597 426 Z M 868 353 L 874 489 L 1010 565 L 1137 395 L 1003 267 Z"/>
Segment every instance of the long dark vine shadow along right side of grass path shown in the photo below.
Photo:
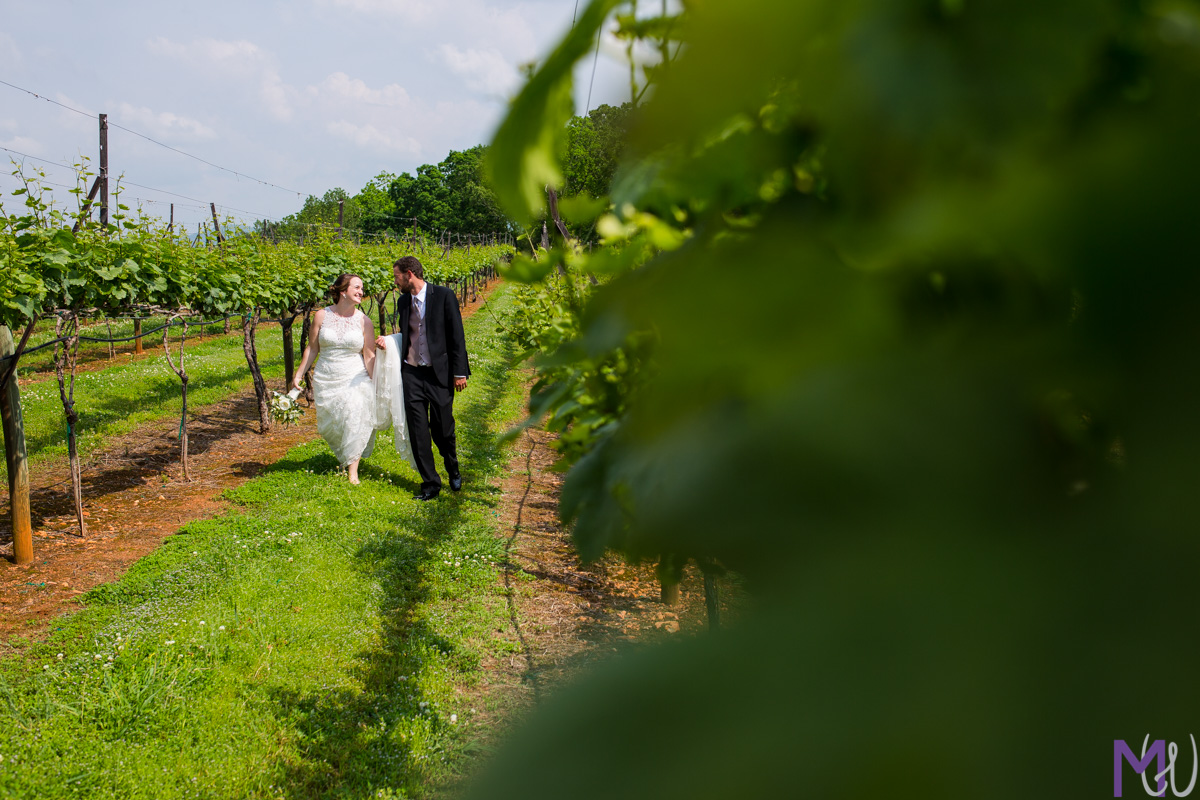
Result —
<path fill-rule="evenodd" d="M 504 347 L 504 355 L 511 355 L 511 345 Z M 367 798 L 385 787 L 409 796 L 451 776 L 452 764 L 442 764 L 442 758 L 450 757 L 444 745 L 458 729 L 421 692 L 416 678 L 431 662 L 468 674 L 478 668 L 479 657 L 438 633 L 419 609 L 437 599 L 439 588 L 430 583 L 427 567 L 442 558 L 442 548 L 468 511 L 496 507 L 499 501 L 500 491 L 488 480 L 503 471 L 506 456 L 487 420 L 511 391 L 512 375 L 508 357 L 492 361 L 472 375 L 473 390 L 460 396 L 470 399 L 455 409 L 463 491 L 443 492 L 431 503 L 406 504 L 391 516 L 388 534 L 355 554 L 383 590 L 380 644 L 347 654 L 361 664 L 355 675 L 361 691 L 275 698 L 281 716 L 300 721 L 305 742 L 302 760 L 284 765 L 288 796 Z M 317 461 L 287 468 L 314 469 Z M 442 459 L 436 461 L 444 471 Z M 368 462 L 361 469 L 364 475 L 391 480 L 397 488 L 419 488 L 412 477 Z M 401 736 L 403 730 L 409 733 Z"/>

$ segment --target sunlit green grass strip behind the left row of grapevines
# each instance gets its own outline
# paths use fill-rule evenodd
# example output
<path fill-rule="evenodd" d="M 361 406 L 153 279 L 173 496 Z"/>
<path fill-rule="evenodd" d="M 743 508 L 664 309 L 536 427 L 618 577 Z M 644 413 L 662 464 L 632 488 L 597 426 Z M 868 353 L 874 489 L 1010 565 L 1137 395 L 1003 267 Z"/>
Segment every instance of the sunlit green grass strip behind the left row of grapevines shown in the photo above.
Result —
<path fill-rule="evenodd" d="M 254 341 L 263 378 L 281 379 L 283 337 L 280 327 L 260 327 Z M 178 365 L 178 339 L 175 348 L 173 357 L 176 357 Z M 238 333 L 209 337 L 203 342 L 190 338 L 184 354 L 190 413 L 220 403 L 252 385 L 241 336 Z M 299 360 L 299 354 L 296 359 Z M 79 413 L 76 428 L 79 452 L 86 455 L 103 445 L 106 439 L 127 433 L 145 422 L 164 416 L 179 419 L 182 396 L 179 377 L 167 365 L 160 349 L 151 357 L 131 361 L 128 356 L 118 356 L 110 367 L 78 373 L 74 404 Z M 36 470 L 37 464 L 47 458 L 66 455 L 67 423 L 56 379 L 43 379 L 22 386 L 20 413 L 25 425 L 25 450 L 32 469 Z M 0 463 L 0 476 L 7 480 L 4 463 Z"/>

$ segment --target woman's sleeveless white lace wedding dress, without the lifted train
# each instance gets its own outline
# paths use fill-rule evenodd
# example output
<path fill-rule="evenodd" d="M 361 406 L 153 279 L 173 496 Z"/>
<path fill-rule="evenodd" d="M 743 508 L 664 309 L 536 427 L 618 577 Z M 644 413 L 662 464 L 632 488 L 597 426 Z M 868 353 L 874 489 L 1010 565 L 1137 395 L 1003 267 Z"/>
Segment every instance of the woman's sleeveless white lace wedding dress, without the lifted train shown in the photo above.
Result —
<path fill-rule="evenodd" d="M 342 467 L 374 449 L 376 387 L 362 363 L 365 319 L 359 309 L 347 318 L 330 306 L 317 331 L 320 351 L 312 371 L 317 433 Z"/>

